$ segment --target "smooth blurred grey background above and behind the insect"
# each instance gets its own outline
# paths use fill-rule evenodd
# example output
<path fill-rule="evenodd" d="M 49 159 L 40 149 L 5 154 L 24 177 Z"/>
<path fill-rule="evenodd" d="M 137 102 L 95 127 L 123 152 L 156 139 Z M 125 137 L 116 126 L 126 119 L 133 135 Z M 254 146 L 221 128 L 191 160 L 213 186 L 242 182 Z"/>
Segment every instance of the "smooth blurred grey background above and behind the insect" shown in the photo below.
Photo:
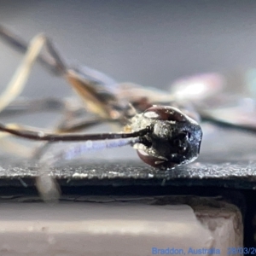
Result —
<path fill-rule="evenodd" d="M 70 64 L 162 89 L 183 76 L 217 72 L 242 90 L 240 74 L 256 67 L 255 17 L 256 2 L 241 0 L 0 1 L 1 24 L 27 41 L 44 32 Z M 0 90 L 20 60 L 0 41 Z M 22 95 L 70 93 L 66 81 L 35 65 Z"/>

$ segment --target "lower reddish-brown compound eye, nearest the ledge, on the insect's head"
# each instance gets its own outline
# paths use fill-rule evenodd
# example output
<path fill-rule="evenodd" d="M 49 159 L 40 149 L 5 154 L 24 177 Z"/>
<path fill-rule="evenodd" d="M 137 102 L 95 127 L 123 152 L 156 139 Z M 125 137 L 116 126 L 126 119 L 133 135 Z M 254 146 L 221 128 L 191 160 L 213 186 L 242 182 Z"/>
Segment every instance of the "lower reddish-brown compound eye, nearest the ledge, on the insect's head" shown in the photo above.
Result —
<path fill-rule="evenodd" d="M 172 161 L 167 161 L 160 159 L 158 157 L 154 157 L 152 155 L 147 154 L 143 150 L 137 150 L 137 154 L 141 160 L 148 166 L 153 166 L 154 168 L 166 169 L 177 166 L 177 163 Z"/>

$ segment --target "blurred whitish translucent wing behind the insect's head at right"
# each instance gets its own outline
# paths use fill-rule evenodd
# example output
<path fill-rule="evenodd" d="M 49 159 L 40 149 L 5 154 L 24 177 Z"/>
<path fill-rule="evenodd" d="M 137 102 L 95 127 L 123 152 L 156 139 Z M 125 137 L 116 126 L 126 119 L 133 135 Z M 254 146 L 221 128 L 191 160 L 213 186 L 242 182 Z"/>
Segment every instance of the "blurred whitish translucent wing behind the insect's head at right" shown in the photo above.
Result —
<path fill-rule="evenodd" d="M 193 102 L 201 119 L 227 128 L 256 132 L 255 76 L 252 72 L 203 74 L 180 79 L 172 93 Z"/>

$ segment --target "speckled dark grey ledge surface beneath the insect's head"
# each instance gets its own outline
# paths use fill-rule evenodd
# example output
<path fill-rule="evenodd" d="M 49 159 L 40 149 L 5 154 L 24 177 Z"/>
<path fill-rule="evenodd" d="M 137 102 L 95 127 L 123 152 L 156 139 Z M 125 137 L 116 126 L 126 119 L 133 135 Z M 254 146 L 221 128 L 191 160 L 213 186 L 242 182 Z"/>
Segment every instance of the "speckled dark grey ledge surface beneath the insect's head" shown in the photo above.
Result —
<path fill-rule="evenodd" d="M 196 162 L 169 171 L 157 171 L 141 162 L 87 163 L 51 170 L 61 186 L 217 186 L 236 189 L 256 188 L 256 161 Z M 34 185 L 38 167 L 6 166 L 1 170 L 0 186 Z"/>

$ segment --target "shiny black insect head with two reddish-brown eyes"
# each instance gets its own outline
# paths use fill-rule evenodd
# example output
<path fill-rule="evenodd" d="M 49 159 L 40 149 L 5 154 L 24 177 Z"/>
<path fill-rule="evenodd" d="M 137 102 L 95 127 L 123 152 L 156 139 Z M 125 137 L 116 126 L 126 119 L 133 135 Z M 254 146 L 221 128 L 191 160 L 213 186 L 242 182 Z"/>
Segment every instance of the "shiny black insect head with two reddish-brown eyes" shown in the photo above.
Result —
<path fill-rule="evenodd" d="M 177 108 L 153 106 L 138 115 L 136 121 L 137 128 L 151 127 L 136 147 L 139 157 L 149 166 L 168 169 L 197 158 L 201 126 Z"/>

